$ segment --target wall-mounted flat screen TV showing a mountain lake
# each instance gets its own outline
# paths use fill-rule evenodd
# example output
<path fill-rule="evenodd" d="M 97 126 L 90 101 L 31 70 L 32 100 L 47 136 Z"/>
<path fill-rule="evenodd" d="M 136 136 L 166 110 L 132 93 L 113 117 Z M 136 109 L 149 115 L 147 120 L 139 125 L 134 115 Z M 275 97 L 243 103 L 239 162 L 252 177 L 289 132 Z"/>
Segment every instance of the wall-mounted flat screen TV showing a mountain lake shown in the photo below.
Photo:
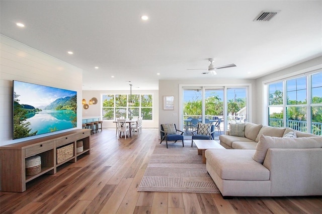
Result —
<path fill-rule="evenodd" d="M 13 139 L 76 126 L 76 91 L 13 80 Z"/>

